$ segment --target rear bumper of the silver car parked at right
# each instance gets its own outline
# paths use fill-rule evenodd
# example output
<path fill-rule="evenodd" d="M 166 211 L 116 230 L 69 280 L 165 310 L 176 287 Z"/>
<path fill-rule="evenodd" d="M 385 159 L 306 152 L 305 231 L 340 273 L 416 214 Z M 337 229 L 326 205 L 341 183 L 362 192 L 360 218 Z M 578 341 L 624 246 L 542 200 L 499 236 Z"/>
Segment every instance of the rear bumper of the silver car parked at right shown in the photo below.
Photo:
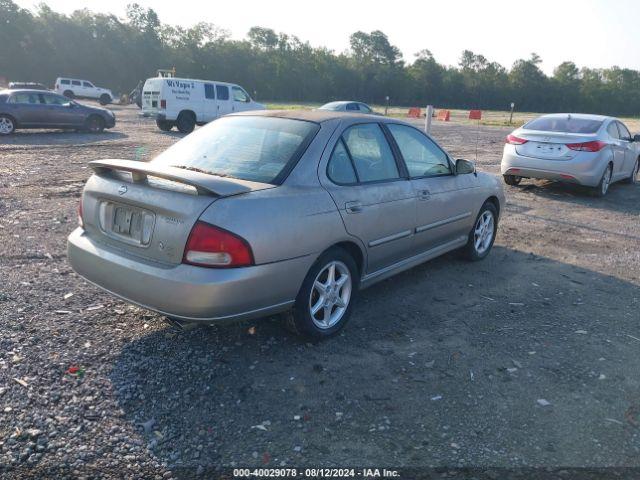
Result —
<path fill-rule="evenodd" d="M 511 148 L 509 148 L 511 147 Z M 571 160 L 545 160 L 523 157 L 506 146 L 500 164 L 503 175 L 541 178 L 595 187 L 600 182 L 607 161 L 602 155 L 576 155 Z"/>

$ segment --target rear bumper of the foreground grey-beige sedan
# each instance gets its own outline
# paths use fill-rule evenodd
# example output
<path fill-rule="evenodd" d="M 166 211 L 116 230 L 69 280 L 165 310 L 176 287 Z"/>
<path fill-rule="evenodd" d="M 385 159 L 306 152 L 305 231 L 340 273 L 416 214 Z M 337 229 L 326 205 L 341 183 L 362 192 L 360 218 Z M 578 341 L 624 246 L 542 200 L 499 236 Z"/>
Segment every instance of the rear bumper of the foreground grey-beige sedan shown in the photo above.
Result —
<path fill-rule="evenodd" d="M 314 262 L 305 256 L 246 268 L 164 266 L 102 245 L 77 228 L 69 263 L 86 280 L 130 302 L 184 320 L 229 322 L 287 310 Z"/>

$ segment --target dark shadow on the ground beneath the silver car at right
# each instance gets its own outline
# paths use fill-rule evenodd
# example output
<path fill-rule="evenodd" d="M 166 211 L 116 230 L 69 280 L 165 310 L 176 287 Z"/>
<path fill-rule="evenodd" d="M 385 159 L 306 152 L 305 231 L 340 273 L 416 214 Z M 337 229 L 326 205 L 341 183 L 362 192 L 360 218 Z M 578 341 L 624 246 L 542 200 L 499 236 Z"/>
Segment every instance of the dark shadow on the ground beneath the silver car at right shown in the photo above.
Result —
<path fill-rule="evenodd" d="M 581 185 L 549 180 L 528 180 L 516 187 L 505 187 L 513 193 L 535 195 L 548 200 L 592 208 L 615 210 L 622 213 L 637 213 L 640 202 L 640 188 L 625 182 L 610 185 L 604 197 L 596 197 L 592 191 Z"/>

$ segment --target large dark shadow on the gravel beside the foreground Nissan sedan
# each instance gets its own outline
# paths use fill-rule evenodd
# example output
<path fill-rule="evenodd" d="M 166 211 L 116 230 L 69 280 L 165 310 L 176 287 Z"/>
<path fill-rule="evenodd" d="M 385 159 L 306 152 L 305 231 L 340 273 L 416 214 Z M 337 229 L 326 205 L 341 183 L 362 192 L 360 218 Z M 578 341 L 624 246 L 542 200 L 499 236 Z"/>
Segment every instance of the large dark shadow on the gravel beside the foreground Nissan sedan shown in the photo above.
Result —
<path fill-rule="evenodd" d="M 178 475 L 638 466 L 639 302 L 638 285 L 495 247 L 483 262 L 449 254 L 362 292 L 330 340 L 301 340 L 273 318 L 167 327 L 127 344 L 110 379 L 136 441 Z"/>

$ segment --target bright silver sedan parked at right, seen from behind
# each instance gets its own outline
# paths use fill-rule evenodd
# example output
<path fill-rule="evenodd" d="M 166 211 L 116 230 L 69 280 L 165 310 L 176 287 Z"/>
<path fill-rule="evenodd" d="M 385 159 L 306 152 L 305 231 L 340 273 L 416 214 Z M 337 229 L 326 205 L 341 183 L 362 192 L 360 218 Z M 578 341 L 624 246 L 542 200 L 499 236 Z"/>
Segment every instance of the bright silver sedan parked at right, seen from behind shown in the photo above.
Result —
<path fill-rule="evenodd" d="M 638 183 L 640 135 L 617 118 L 600 115 L 543 115 L 506 140 L 501 172 L 508 185 L 541 178 L 593 187 L 604 196 L 617 181 Z"/>

